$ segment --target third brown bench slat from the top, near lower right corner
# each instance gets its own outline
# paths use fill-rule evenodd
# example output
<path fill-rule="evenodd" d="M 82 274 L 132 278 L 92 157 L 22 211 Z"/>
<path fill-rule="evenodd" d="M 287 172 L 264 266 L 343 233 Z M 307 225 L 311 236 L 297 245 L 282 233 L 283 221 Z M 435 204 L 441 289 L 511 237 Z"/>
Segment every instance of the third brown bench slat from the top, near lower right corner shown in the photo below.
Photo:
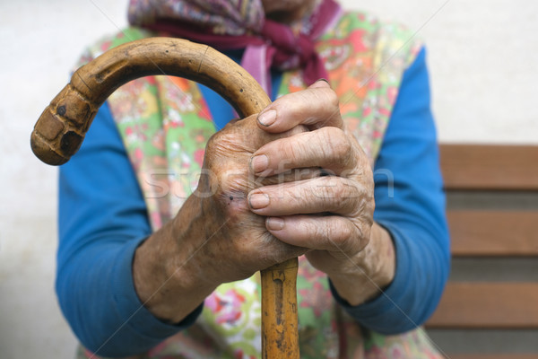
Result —
<path fill-rule="evenodd" d="M 538 283 L 449 282 L 430 328 L 538 328 Z"/>

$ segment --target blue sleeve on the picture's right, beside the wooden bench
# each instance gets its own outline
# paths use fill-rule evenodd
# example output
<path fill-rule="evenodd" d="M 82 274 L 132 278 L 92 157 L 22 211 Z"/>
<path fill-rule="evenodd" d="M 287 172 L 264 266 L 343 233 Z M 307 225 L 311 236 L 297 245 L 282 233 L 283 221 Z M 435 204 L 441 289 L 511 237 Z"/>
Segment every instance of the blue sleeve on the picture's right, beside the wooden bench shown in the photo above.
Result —
<path fill-rule="evenodd" d="M 445 195 L 430 110 L 425 50 L 404 73 L 374 168 L 374 220 L 395 243 L 395 279 L 376 299 L 351 307 L 352 317 L 382 334 L 421 325 L 437 307 L 450 267 Z"/>

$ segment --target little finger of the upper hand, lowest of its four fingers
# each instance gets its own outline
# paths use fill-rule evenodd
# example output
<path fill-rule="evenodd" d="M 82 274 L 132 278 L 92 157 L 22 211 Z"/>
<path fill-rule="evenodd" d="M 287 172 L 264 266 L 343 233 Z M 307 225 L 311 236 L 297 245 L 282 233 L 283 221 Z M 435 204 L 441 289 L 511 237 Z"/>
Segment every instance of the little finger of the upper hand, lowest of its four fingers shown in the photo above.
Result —
<path fill-rule="evenodd" d="M 357 253 L 368 243 L 361 227 L 340 215 L 291 215 L 268 217 L 265 227 L 274 237 L 293 246 L 311 250 Z"/>

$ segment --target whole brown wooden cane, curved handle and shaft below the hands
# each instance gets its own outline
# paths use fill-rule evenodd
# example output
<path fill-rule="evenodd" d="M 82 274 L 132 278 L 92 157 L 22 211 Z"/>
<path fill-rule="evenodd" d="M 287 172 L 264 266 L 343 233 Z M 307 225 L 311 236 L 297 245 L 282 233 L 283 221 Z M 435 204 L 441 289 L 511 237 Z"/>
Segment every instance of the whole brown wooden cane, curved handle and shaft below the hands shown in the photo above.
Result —
<path fill-rule="evenodd" d="M 271 103 L 247 71 L 213 48 L 184 39 L 136 40 L 108 50 L 73 74 L 39 117 L 30 138 L 33 153 L 51 165 L 69 161 L 112 92 L 136 78 L 158 74 L 203 83 L 241 117 Z M 297 268 L 294 258 L 261 272 L 264 358 L 299 358 Z"/>

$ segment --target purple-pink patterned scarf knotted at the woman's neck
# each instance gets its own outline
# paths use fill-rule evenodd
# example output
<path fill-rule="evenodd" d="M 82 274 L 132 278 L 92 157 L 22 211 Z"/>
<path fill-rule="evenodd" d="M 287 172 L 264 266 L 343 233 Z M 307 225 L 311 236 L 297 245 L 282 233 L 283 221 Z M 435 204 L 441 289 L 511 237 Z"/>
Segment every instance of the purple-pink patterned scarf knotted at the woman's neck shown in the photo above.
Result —
<path fill-rule="evenodd" d="M 271 94 L 271 67 L 300 67 L 308 85 L 328 79 L 314 41 L 341 12 L 334 0 L 317 0 L 310 13 L 285 25 L 265 19 L 261 0 L 130 0 L 129 22 L 221 51 L 245 48 L 241 66 Z"/>

